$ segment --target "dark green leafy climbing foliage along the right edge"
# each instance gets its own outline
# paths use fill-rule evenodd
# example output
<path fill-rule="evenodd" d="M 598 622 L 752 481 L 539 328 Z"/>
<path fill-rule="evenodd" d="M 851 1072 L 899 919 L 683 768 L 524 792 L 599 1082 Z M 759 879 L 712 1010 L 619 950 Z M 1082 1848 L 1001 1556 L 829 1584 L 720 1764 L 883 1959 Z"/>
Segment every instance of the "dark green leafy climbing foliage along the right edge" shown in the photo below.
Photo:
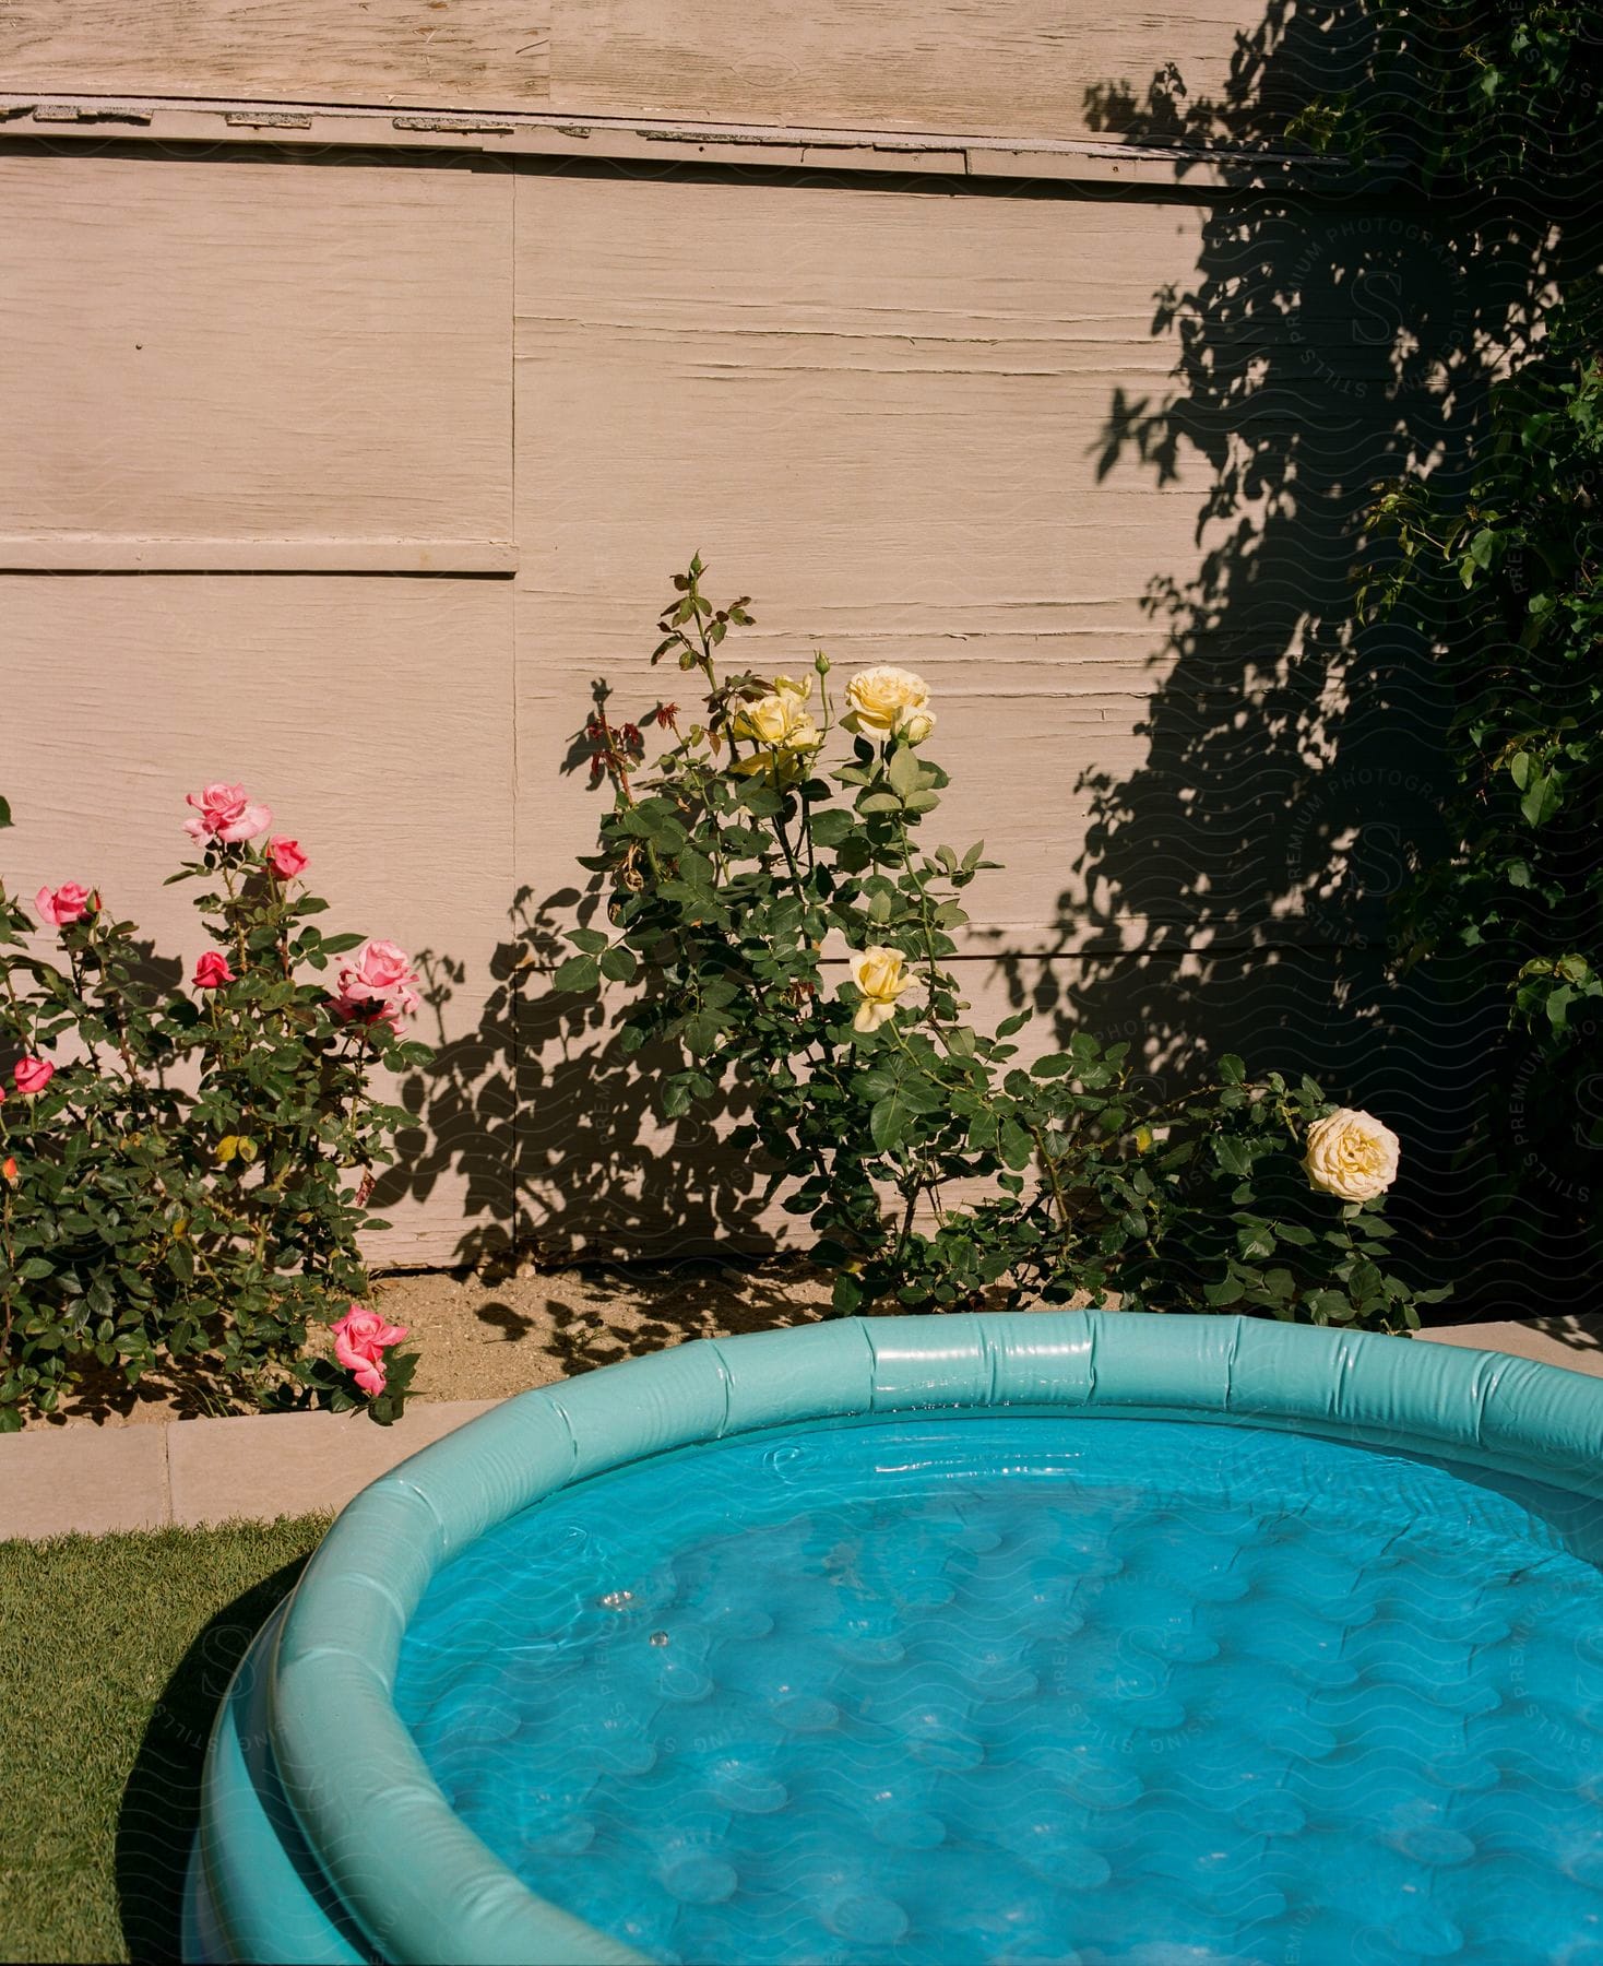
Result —
<path fill-rule="evenodd" d="M 1467 480 L 1422 460 L 1369 513 L 1359 606 L 1418 625 L 1454 704 L 1448 847 L 1401 896 L 1399 957 L 1501 997 L 1526 1052 L 1465 1142 L 1489 1205 L 1536 1241 L 1579 1207 L 1603 1241 L 1603 4 L 1379 0 L 1375 29 L 1365 87 L 1316 106 L 1328 144 L 1409 159 L 1487 242 L 1532 214 L 1542 238 L 1532 313 L 1487 317 L 1511 352 Z M 1497 293 L 1495 244 L 1483 260 Z"/>

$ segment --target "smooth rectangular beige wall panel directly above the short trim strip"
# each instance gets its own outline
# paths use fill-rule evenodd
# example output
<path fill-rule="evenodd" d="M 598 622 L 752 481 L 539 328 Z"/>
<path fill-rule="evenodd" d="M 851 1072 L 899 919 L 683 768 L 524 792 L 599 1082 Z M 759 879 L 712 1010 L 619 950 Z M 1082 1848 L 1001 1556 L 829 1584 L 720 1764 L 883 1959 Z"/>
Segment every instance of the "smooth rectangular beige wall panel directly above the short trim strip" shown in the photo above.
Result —
<path fill-rule="evenodd" d="M 0 533 L 507 541 L 511 183 L 0 155 Z"/>

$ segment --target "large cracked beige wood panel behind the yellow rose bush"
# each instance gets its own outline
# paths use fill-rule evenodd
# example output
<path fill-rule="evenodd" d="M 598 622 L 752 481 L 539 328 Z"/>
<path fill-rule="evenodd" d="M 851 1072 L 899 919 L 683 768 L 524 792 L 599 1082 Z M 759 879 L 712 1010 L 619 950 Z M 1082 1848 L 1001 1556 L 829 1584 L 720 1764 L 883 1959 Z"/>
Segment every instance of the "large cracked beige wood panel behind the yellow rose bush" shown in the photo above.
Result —
<path fill-rule="evenodd" d="M 929 680 L 953 773 L 935 838 L 984 838 L 1006 863 L 968 898 L 963 981 L 980 1018 L 1067 1005 L 1094 981 L 1096 1028 L 1139 1038 L 1108 1016 L 1110 965 L 1059 952 L 1120 944 L 1133 983 L 1157 938 L 1157 967 L 1179 975 L 1192 934 L 1216 950 L 1299 936 L 1265 920 L 1251 855 L 1244 889 L 1192 914 L 1159 883 L 1159 920 L 1088 910 L 1104 896 L 1077 875 L 1082 773 L 1147 755 L 1163 649 L 1147 584 L 1187 580 L 1210 545 L 1196 517 L 1212 472 L 1188 446 L 1163 488 L 1132 464 L 1104 476 L 1116 397 L 1155 405 L 1169 389 L 1155 293 L 1192 277 L 1206 216 L 1171 201 L 519 181 L 517 867 L 548 924 L 572 918 L 574 855 L 593 849 L 605 798 L 572 769 L 591 678 L 617 688 L 619 714 L 684 694 L 646 657 L 668 576 L 699 549 L 711 594 L 754 596 L 737 661 L 798 672 L 823 647 L 837 686 L 870 663 Z M 1302 993 L 1320 1001 L 1328 959 L 1310 961 Z M 1226 995 L 1245 1005 L 1240 985 Z M 1228 1011 L 1214 1028 L 1232 1028 Z M 605 1040 L 593 1012 L 534 995 L 525 1225 L 552 1248 L 581 1237 L 623 1256 L 780 1231 L 778 1211 L 756 1215 L 748 1166 L 642 1115 Z M 1025 1046 L 1051 1042 L 1047 1016 Z"/>

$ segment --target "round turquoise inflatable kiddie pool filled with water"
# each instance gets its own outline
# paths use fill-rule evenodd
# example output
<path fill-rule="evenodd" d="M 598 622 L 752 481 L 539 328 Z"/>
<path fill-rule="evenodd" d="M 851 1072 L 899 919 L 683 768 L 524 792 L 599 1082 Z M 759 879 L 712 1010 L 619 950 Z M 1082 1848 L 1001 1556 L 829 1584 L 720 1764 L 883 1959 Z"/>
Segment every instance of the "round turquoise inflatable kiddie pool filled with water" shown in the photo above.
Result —
<path fill-rule="evenodd" d="M 189 1960 L 1603 1960 L 1603 1386 L 1236 1317 L 843 1319 L 352 1502 Z"/>

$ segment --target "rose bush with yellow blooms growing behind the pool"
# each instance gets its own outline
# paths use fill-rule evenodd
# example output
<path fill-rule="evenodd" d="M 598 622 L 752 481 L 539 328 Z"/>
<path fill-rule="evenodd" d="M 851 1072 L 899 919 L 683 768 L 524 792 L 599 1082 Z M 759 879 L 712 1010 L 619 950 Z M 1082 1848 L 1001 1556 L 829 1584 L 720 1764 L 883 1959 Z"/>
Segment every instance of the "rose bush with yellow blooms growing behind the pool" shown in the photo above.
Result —
<path fill-rule="evenodd" d="M 965 1020 L 957 934 L 994 863 L 923 841 L 947 773 L 919 678 L 870 670 L 837 702 L 823 655 L 805 680 L 721 674 L 750 615 L 701 574 L 676 578 L 654 655 L 697 678 L 695 718 L 615 723 L 597 690 L 593 777 L 615 798 L 583 865 L 605 904 L 556 983 L 638 979 L 621 1042 L 660 1113 L 741 1115 L 733 1144 L 815 1231 L 837 1309 L 1116 1300 L 1416 1327 L 1446 1292 L 1387 1266 L 1379 1201 L 1344 1205 L 1300 1164 L 1318 1085 L 1222 1058 L 1216 1083 L 1141 1105 L 1124 1044 L 1031 1060 L 1029 1012 Z M 652 725 L 668 741 L 646 763 Z"/>

